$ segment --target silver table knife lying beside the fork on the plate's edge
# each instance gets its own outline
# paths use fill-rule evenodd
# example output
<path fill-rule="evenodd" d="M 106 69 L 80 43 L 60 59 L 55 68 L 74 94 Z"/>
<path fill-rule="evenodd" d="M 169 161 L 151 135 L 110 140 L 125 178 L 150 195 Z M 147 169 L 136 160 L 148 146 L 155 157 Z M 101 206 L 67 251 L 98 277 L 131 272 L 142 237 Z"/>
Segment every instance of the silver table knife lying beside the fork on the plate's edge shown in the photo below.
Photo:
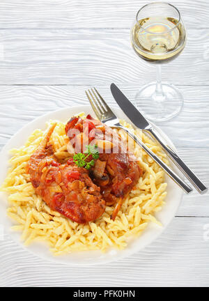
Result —
<path fill-rule="evenodd" d="M 167 155 L 171 158 L 173 163 L 176 164 L 176 166 L 180 169 L 180 171 L 183 172 L 185 177 L 194 185 L 196 190 L 200 193 L 206 193 L 208 188 L 201 182 L 201 180 L 194 174 L 194 172 L 187 167 L 187 164 L 183 162 L 182 159 L 177 155 L 175 151 L 173 151 L 165 141 L 162 141 L 162 138 L 160 137 L 160 134 L 157 133 L 155 128 L 153 128 L 153 125 L 151 125 L 146 118 L 138 111 L 134 105 L 132 105 L 132 102 L 128 100 L 125 95 L 121 92 L 121 90 L 115 85 L 111 84 L 111 93 L 114 96 L 114 99 L 116 100 L 117 104 L 125 115 L 130 118 L 130 121 L 139 129 L 145 130 L 149 134 L 151 134 L 157 142 L 164 148 L 164 151 L 166 151 Z"/>

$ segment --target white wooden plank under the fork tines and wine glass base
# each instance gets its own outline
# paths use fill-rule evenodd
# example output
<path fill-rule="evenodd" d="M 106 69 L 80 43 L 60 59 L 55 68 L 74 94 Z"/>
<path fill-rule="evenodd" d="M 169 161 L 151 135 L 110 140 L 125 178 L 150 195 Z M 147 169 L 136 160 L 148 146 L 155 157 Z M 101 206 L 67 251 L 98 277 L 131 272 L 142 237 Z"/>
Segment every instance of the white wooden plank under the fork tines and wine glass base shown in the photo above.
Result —
<path fill-rule="evenodd" d="M 89 86 L 0 86 L 0 145 L 34 118 L 49 111 L 86 105 Z M 121 86 L 130 100 L 135 86 Z M 183 160 L 209 186 L 209 86 L 180 86 L 185 108 L 176 119 L 160 124 L 178 148 Z M 115 105 L 109 86 L 98 86 L 109 105 Z M 70 116 L 69 116 L 70 117 Z M 177 215 L 209 216 L 208 194 L 185 195 Z"/>

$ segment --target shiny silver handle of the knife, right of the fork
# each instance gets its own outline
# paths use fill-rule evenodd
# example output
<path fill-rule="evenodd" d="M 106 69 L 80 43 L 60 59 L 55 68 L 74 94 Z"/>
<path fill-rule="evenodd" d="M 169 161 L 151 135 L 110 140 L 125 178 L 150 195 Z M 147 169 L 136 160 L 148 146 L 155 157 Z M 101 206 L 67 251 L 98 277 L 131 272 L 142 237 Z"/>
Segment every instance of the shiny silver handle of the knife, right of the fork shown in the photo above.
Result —
<path fill-rule="evenodd" d="M 162 141 L 162 138 L 157 133 L 157 131 L 153 128 L 150 128 L 149 130 L 146 130 L 153 136 L 157 142 L 164 148 L 164 151 L 166 151 L 167 155 L 171 158 L 174 164 L 182 171 L 182 173 L 185 175 L 185 177 L 189 180 L 192 185 L 194 185 L 195 189 L 200 193 L 204 194 L 207 192 L 208 188 L 201 182 L 201 180 L 194 174 L 194 172 L 189 169 L 187 164 L 183 162 L 183 160 L 180 159 L 180 157 L 175 153 L 169 146 L 164 144 Z"/>

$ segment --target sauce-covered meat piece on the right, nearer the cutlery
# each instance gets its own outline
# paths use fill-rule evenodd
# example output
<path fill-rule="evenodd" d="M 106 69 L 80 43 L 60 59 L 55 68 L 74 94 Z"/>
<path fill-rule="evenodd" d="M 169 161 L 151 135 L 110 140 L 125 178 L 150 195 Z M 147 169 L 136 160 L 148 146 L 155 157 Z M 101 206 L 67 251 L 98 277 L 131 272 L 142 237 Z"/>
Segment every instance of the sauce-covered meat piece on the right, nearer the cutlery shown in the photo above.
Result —
<path fill-rule="evenodd" d="M 87 130 L 86 130 L 87 128 Z M 139 163 L 132 153 L 127 152 L 126 145 L 121 137 L 107 125 L 95 120 L 88 114 L 86 119 L 72 117 L 65 127 L 65 132 L 70 138 L 72 145 L 77 152 L 76 137 L 72 138 L 70 130 L 77 129 L 80 133 L 88 134 L 88 143 L 97 144 L 100 156 L 99 160 L 106 162 L 105 165 L 105 182 L 100 179 L 93 178 L 96 185 L 100 185 L 102 196 L 106 204 L 111 206 L 117 203 L 112 218 L 115 219 L 118 210 L 120 210 L 124 197 L 137 184 L 139 177 L 143 171 L 139 167 Z M 80 137 L 80 136 L 79 136 Z M 86 139 L 85 139 L 86 141 Z M 82 143 L 81 141 L 79 141 Z M 115 147 L 116 146 L 116 147 Z M 84 150 L 84 146 L 80 148 Z M 96 166 L 96 164 L 95 164 Z M 94 175 L 92 167 L 91 174 Z M 104 185 L 104 183 L 106 185 Z"/>

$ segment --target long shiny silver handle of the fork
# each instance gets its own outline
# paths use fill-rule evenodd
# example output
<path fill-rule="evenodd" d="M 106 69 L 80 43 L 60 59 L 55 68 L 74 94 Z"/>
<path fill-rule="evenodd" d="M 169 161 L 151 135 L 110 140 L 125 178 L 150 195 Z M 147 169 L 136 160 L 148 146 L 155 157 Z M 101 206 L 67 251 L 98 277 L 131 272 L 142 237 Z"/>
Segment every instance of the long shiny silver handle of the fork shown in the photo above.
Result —
<path fill-rule="evenodd" d="M 150 157 L 152 157 L 153 160 L 160 165 L 160 167 L 162 167 L 162 169 L 164 169 L 164 171 L 176 182 L 176 184 L 178 184 L 185 192 L 187 192 L 187 194 L 192 192 L 192 188 L 187 185 L 187 183 L 185 183 L 176 173 L 174 173 L 174 171 L 172 171 L 172 169 L 170 169 L 170 167 L 168 167 L 167 164 L 160 159 L 160 157 L 155 155 L 150 148 L 148 148 L 141 140 L 139 140 L 136 135 L 132 134 L 130 130 L 123 128 L 122 125 L 115 126 L 114 128 L 121 128 L 122 130 L 125 130 L 125 132 L 127 132 L 127 134 L 134 139 L 134 141 L 137 142 L 137 144 L 139 144 L 139 146 L 141 146 L 141 148 L 143 148 L 144 151 L 146 151 L 146 153 L 148 153 L 148 155 L 150 155 Z"/>

